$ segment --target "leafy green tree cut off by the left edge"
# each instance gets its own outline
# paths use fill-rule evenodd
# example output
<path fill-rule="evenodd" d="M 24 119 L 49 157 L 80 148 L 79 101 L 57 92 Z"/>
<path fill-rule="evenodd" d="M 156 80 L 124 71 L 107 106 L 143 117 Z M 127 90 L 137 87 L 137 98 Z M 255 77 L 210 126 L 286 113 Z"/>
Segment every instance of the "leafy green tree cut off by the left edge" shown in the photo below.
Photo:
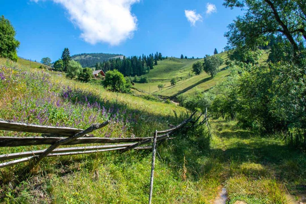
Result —
<path fill-rule="evenodd" d="M 17 48 L 20 42 L 15 39 L 15 29 L 11 22 L 0 17 L 0 57 L 6 57 L 13 61 L 17 61 Z"/>

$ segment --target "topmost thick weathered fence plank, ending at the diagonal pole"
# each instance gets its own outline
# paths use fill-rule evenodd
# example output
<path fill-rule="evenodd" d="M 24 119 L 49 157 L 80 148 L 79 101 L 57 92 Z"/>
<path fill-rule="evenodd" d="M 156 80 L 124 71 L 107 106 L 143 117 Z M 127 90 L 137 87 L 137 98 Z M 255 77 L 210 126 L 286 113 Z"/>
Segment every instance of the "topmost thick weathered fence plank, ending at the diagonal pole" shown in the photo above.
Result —
<path fill-rule="evenodd" d="M 43 126 L 43 125 L 33 125 L 26 123 L 14 123 L 7 121 L 0 121 L 0 130 L 47 133 L 47 134 L 57 134 L 57 135 L 66 135 L 66 136 L 72 136 L 82 131 L 82 129 L 77 129 L 77 128 Z"/>

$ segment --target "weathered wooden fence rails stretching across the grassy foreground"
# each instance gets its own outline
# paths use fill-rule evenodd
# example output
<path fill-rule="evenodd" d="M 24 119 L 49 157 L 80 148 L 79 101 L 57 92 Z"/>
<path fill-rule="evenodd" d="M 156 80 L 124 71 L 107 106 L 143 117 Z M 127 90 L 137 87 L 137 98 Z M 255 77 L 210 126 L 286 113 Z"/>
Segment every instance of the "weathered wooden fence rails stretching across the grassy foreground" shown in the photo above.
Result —
<path fill-rule="evenodd" d="M 187 123 L 192 121 L 192 117 L 196 112 L 183 121 L 181 124 L 163 131 L 157 131 L 156 141 L 163 141 L 170 138 L 177 130 L 183 128 Z M 199 117 L 200 118 L 200 117 Z M 198 119 L 199 119 L 198 118 Z M 198 120 L 197 119 L 197 120 Z M 89 128 L 77 129 L 67 127 L 53 127 L 53 126 L 41 126 L 25 123 L 15 123 L 0 121 L 0 130 L 17 131 L 17 132 L 31 132 L 41 133 L 44 137 L 4 137 L 0 136 L 0 147 L 18 147 L 18 146 L 32 146 L 32 145 L 50 145 L 47 149 L 18 152 L 11 154 L 0 155 L 0 161 L 16 159 L 13 161 L 7 161 L 0 163 L 0 168 L 27 162 L 34 161 L 34 164 L 38 164 L 44 157 L 56 157 L 75 154 L 89 154 L 103 151 L 120 150 L 125 152 L 131 149 L 151 149 L 151 146 L 142 146 L 148 143 L 153 143 L 153 137 L 145 138 L 100 138 L 100 137 L 88 137 L 88 134 L 105 127 L 109 124 L 109 121 L 105 121 L 101 124 L 92 124 Z M 154 135 L 155 135 L 154 134 Z M 157 135 L 162 134 L 162 135 Z M 99 145 L 99 146 L 84 146 L 84 147 L 66 147 L 58 148 L 61 145 L 78 145 L 78 144 L 106 144 L 106 143 L 121 143 L 114 145 Z M 156 147 L 156 145 L 155 145 Z M 154 149 L 154 148 L 153 148 Z M 17 159 L 19 158 L 19 159 Z M 20 159 L 21 158 L 21 159 Z"/>

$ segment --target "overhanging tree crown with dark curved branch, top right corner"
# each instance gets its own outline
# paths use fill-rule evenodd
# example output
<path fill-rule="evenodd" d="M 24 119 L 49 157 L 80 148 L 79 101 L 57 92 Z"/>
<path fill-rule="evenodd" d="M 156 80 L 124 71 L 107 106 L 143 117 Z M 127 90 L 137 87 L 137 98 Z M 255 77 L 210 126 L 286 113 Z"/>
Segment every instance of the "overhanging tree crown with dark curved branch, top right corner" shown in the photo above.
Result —
<path fill-rule="evenodd" d="M 259 46 L 265 46 L 271 35 L 285 39 L 293 49 L 293 57 L 298 60 L 299 43 L 305 42 L 305 5 L 302 1 L 282 0 L 226 0 L 224 5 L 246 8 L 244 15 L 238 16 L 228 26 L 226 50 L 235 50 L 232 60 L 254 63 Z M 253 53 L 250 55 L 250 53 Z"/>

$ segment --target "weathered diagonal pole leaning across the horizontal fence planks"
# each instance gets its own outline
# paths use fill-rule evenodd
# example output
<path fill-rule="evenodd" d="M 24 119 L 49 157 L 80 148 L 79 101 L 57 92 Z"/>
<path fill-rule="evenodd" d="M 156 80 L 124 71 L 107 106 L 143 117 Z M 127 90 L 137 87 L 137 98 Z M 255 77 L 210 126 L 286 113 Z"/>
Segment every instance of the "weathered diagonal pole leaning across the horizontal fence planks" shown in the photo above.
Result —
<path fill-rule="evenodd" d="M 89 128 L 86 128 L 85 130 L 82 130 L 81 132 L 76 133 L 75 135 L 71 136 L 71 137 L 67 137 L 65 139 L 60 139 L 58 141 L 56 141 L 54 144 L 52 144 L 50 147 L 47 148 L 47 150 L 45 150 L 43 153 L 39 154 L 37 157 L 34 157 L 35 159 L 35 164 L 38 164 L 39 161 L 41 161 L 44 157 L 46 157 L 50 152 L 52 152 L 55 148 L 57 148 L 60 145 L 65 145 L 69 142 L 73 142 L 74 140 L 83 137 L 84 135 L 91 133 L 95 130 L 98 130 L 100 128 L 105 127 L 106 125 L 108 125 L 110 123 L 110 121 L 105 121 L 103 123 L 95 123 L 95 124 L 91 124 L 91 126 Z"/>

